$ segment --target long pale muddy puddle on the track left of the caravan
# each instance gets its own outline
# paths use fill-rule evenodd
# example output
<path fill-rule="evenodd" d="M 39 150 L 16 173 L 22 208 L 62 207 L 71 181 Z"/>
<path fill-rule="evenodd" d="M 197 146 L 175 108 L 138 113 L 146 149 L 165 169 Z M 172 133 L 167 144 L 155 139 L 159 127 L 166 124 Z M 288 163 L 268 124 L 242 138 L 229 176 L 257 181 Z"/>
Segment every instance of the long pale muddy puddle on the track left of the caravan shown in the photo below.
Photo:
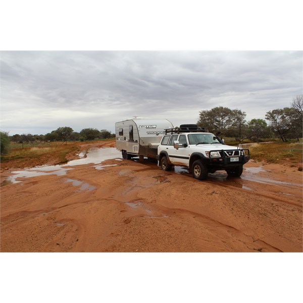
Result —
<path fill-rule="evenodd" d="M 69 161 L 63 165 L 50 165 L 50 166 L 37 166 L 34 168 L 28 168 L 20 171 L 13 171 L 12 176 L 9 176 L 2 184 L 2 186 L 20 183 L 22 181 L 18 180 L 19 178 L 32 178 L 38 176 L 49 176 L 49 175 L 57 175 L 64 176 L 67 174 L 69 170 L 73 168 L 71 166 L 78 166 L 84 164 L 98 164 L 95 169 L 103 169 L 102 163 L 103 161 L 115 159 L 117 161 L 122 161 L 121 152 L 114 147 L 104 147 L 104 148 L 92 148 L 86 152 L 82 152 L 78 155 L 80 159 Z M 91 186 L 87 183 L 83 183 L 79 180 L 74 179 L 66 179 L 65 182 L 71 182 L 73 186 L 80 186 L 80 190 L 92 190 L 94 186 Z"/>

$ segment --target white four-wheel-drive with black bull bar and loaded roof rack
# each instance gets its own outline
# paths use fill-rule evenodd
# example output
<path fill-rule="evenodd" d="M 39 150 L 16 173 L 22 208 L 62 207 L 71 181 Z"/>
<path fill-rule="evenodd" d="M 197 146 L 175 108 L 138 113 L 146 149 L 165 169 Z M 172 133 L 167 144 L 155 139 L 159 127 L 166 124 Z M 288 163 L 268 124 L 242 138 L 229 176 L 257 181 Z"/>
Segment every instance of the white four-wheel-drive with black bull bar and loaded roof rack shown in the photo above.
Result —
<path fill-rule="evenodd" d="M 172 166 L 189 169 L 195 179 L 205 180 L 208 173 L 225 170 L 239 177 L 249 161 L 249 149 L 226 145 L 219 137 L 194 124 L 166 129 L 158 146 L 159 165 L 165 171 Z"/>

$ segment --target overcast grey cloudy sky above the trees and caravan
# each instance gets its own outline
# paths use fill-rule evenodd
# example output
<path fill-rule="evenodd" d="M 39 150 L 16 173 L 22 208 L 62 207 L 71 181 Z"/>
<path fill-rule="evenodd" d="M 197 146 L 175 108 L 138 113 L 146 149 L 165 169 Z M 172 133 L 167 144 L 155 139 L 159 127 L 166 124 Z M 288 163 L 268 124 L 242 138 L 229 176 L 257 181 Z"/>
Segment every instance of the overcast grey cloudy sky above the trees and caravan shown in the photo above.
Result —
<path fill-rule="evenodd" d="M 2 131 L 115 130 L 133 116 L 196 123 L 223 106 L 246 121 L 302 93 L 302 52 L 1 52 Z"/>

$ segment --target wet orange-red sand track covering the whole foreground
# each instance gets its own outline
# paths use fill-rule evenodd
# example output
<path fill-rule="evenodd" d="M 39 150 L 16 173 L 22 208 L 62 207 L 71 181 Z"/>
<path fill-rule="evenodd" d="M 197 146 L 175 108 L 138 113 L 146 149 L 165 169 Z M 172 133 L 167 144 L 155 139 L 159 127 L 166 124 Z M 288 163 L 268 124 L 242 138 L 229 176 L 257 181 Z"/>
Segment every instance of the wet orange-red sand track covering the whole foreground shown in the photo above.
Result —
<path fill-rule="evenodd" d="M 85 162 L 83 153 L 1 187 L 2 252 L 302 251 L 296 168 L 251 160 L 240 178 L 217 172 L 198 181 L 99 149 L 112 159 Z M 12 175 L 2 172 L 2 182 Z"/>

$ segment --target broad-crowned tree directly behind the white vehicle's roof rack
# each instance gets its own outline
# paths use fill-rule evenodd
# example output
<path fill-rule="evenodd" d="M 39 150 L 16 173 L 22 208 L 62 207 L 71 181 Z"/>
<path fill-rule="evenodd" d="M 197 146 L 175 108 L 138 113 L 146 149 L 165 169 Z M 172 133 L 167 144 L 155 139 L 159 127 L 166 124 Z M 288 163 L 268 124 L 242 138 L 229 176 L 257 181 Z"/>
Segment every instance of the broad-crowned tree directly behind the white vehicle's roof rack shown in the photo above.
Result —
<path fill-rule="evenodd" d="M 240 110 L 231 110 L 226 107 L 216 107 L 199 112 L 198 126 L 206 127 L 210 132 L 226 135 L 228 128 L 237 129 L 239 123 L 244 125 L 246 113 Z"/>

